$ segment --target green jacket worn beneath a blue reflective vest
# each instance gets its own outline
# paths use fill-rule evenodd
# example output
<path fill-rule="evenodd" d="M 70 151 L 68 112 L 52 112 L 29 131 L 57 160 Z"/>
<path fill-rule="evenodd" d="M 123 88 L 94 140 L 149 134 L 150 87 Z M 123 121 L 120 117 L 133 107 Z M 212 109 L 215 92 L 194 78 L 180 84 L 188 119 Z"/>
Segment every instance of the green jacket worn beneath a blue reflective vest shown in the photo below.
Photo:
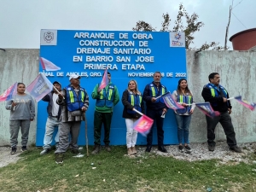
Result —
<path fill-rule="evenodd" d="M 108 85 L 103 89 L 103 91 L 108 92 L 108 86 L 109 84 L 113 84 L 112 82 L 109 82 Z M 92 93 L 91 93 L 91 97 L 93 99 L 99 100 L 101 94 L 98 93 L 98 88 L 99 88 L 99 84 L 96 84 L 95 88 L 93 89 Z M 113 106 L 115 106 L 118 102 L 119 102 L 119 90 L 117 89 L 116 85 L 114 85 L 114 96 L 113 96 Z M 113 112 L 113 108 L 108 108 L 106 105 L 103 107 L 98 107 L 96 106 L 95 110 L 97 112 L 101 112 L 101 113 L 111 113 Z"/>

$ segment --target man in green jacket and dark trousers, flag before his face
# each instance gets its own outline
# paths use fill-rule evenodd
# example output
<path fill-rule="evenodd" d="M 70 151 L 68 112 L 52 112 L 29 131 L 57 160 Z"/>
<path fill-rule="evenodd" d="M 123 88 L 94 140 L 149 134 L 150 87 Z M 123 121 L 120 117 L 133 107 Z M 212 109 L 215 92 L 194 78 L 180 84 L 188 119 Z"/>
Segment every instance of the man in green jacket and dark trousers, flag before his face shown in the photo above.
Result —
<path fill-rule="evenodd" d="M 108 72 L 108 85 L 100 90 L 99 85 L 96 84 L 94 90 L 92 91 L 92 98 L 96 99 L 96 108 L 94 112 L 94 143 L 95 148 L 91 154 L 98 154 L 101 147 L 101 131 L 102 124 L 104 125 L 104 143 L 108 152 L 111 151 L 109 147 L 109 134 L 110 125 L 113 114 L 113 107 L 119 102 L 119 90 L 116 85 L 111 82 L 111 74 Z"/>

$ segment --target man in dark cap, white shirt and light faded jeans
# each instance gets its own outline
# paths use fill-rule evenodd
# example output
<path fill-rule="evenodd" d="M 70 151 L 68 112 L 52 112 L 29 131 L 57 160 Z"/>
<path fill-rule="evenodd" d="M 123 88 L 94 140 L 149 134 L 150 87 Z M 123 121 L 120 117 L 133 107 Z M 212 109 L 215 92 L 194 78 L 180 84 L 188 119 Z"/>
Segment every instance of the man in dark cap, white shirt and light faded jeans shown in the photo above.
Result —
<path fill-rule="evenodd" d="M 59 91 L 61 91 L 61 84 L 57 81 L 53 83 L 55 88 Z M 55 128 L 59 127 L 60 124 L 60 116 L 61 116 L 61 108 L 57 104 L 57 99 L 58 99 L 58 92 L 53 89 L 49 94 L 44 96 L 42 99 L 44 102 L 48 102 L 47 106 L 47 113 L 48 113 L 48 118 L 46 121 L 45 125 L 45 134 L 44 134 L 44 150 L 41 151 L 40 154 L 48 154 L 50 151 L 50 144 L 52 143 L 52 137 L 55 131 Z M 59 130 L 57 131 L 57 134 L 55 136 L 55 146 L 57 148 L 59 144 Z"/>

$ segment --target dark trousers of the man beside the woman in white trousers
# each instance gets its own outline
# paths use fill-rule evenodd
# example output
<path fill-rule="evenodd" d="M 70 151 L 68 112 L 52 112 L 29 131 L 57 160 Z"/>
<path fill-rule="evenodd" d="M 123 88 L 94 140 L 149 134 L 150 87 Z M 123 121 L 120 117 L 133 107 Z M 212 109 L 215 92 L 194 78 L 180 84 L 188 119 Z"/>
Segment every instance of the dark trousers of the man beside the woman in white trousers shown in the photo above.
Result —
<path fill-rule="evenodd" d="M 158 146 L 161 146 L 164 143 L 164 131 L 163 131 L 164 118 L 161 118 L 162 113 L 163 113 L 162 109 L 147 110 L 148 117 L 151 119 L 154 119 L 154 122 L 156 123 Z M 152 125 L 150 131 L 148 132 L 147 146 L 152 145 L 152 140 L 153 140 L 153 125 Z"/>

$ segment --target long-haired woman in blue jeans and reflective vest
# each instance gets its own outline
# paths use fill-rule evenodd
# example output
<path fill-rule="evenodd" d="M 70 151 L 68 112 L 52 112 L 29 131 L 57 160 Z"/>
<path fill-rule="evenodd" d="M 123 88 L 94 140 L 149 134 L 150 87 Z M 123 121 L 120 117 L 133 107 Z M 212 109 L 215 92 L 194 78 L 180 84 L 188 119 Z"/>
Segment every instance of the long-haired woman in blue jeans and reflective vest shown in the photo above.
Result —
<path fill-rule="evenodd" d="M 175 118 L 177 122 L 177 140 L 178 149 L 183 152 L 184 148 L 190 153 L 189 147 L 189 125 L 191 121 L 191 114 L 195 109 L 195 102 L 193 102 L 192 92 L 189 90 L 186 79 L 179 79 L 177 84 L 177 90 L 172 93 L 173 98 L 179 102 L 184 108 L 174 110 Z"/>

